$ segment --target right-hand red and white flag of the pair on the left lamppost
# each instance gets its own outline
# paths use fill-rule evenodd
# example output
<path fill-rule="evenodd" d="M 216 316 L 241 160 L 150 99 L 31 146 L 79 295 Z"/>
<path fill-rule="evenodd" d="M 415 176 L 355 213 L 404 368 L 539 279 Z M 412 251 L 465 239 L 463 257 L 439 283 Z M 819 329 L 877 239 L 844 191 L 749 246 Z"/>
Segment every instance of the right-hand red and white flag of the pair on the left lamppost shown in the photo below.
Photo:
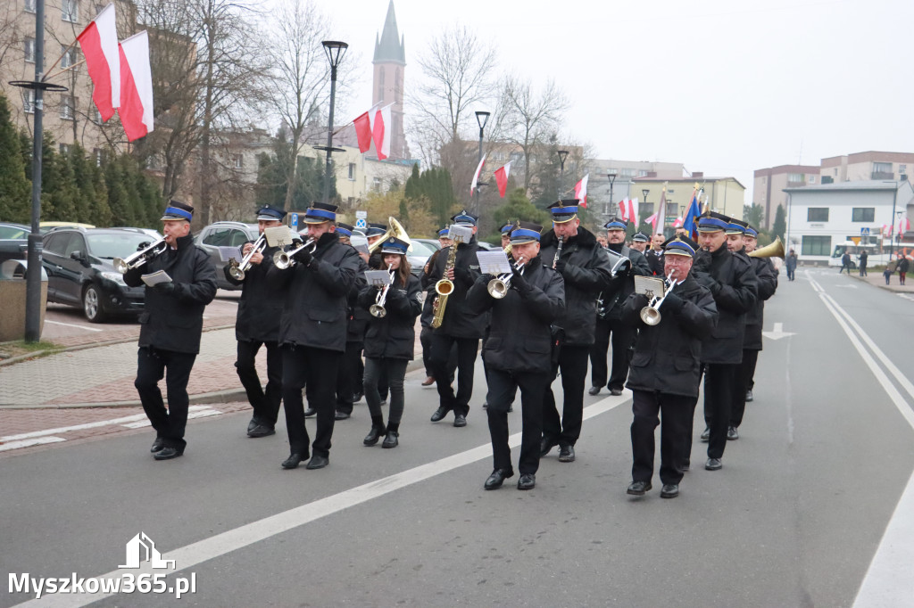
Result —
<path fill-rule="evenodd" d="M 153 74 L 149 67 L 149 37 L 143 30 L 121 41 L 121 115 L 127 140 L 153 131 Z"/>

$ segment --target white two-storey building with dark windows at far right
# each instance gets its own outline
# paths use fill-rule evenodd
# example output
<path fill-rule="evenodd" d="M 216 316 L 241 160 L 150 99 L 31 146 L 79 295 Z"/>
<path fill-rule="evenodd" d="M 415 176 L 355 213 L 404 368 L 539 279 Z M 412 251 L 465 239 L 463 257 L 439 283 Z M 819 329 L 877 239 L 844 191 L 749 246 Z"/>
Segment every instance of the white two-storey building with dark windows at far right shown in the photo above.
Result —
<path fill-rule="evenodd" d="M 795 249 L 807 263 L 828 264 L 835 246 L 866 236 L 885 249 L 888 239 L 879 238 L 883 226 L 895 225 L 897 230 L 899 217 L 914 214 L 914 189 L 908 181 L 824 183 L 784 192 L 786 248 Z"/>

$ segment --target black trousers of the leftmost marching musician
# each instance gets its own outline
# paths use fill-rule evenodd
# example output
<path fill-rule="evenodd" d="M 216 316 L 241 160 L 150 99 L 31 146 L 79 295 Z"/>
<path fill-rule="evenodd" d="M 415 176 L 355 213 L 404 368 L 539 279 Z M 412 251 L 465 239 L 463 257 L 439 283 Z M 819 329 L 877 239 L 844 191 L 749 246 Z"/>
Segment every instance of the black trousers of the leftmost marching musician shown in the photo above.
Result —
<path fill-rule="evenodd" d="M 137 354 L 136 380 L 133 386 L 140 393 L 143 412 L 162 437 L 165 446 L 183 448 L 187 445 L 184 431 L 187 425 L 187 381 L 194 367 L 197 353 L 175 352 L 141 346 Z M 162 400 L 159 381 L 165 376 L 168 409 Z"/>

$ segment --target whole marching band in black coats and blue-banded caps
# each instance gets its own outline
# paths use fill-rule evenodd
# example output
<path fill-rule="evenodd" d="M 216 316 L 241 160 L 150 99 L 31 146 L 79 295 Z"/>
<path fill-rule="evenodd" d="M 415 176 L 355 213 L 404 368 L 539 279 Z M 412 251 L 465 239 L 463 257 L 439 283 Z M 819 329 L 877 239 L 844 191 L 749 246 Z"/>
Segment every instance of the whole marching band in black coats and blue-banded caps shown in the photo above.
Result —
<path fill-rule="evenodd" d="M 506 224 L 501 263 L 507 266 L 497 275 L 483 271 L 479 218 L 466 211 L 452 216 L 438 234 L 441 249 L 414 271 L 409 236 L 392 217 L 388 225 L 368 225 L 362 235 L 368 246 L 356 247 L 356 230 L 337 221 L 336 206 L 314 203 L 303 215 L 307 229 L 287 230 L 291 244 L 277 244 L 270 230 L 281 227 L 286 214 L 261 208 L 259 238 L 241 246 L 240 260 L 225 267 L 226 278 L 241 286 L 235 367 L 252 410 L 248 436 L 275 435 L 284 404 L 289 456 L 282 468 L 305 460 L 305 468 L 323 468 L 335 421 L 350 417 L 364 394 L 371 426 L 363 444 L 376 446 L 383 437 L 382 447 L 399 446 L 404 380 L 420 318 L 422 385 L 434 383 L 439 397 L 432 423 L 453 413 L 453 426 L 467 425 L 483 341 L 493 451 L 485 489 L 515 475 L 508 414 L 518 389 L 518 489 L 536 486 L 540 458 L 553 447 L 559 462 L 575 461 L 589 361 L 590 395 L 603 387 L 612 395 L 632 391 L 628 494 L 652 489 L 659 425 L 660 496 L 678 496 L 691 466 L 702 379 L 705 468 L 720 469 L 753 400 L 764 302 L 778 284 L 769 258 L 782 257 L 782 246 L 758 250 L 754 227 L 706 211 L 697 221 L 698 243 L 678 233 L 665 241 L 657 234 L 644 252 L 648 236 L 637 233 L 626 244 L 622 218 L 603 226 L 605 238 L 588 231 L 580 225 L 578 204 L 549 205 L 551 229 L 524 220 Z M 122 264 L 128 285 L 146 286 L 135 385 L 156 433 L 156 460 L 184 454 L 186 384 L 199 351 L 203 309 L 216 294 L 212 265 L 189 234 L 193 214 L 190 205 L 170 201 L 162 242 Z M 254 365 L 261 347 L 265 387 Z M 557 376 L 561 414 L 552 389 Z M 157 386 L 163 377 L 167 409 Z M 388 396 L 385 423 L 381 406 Z M 314 414 L 312 442 L 305 418 Z"/>

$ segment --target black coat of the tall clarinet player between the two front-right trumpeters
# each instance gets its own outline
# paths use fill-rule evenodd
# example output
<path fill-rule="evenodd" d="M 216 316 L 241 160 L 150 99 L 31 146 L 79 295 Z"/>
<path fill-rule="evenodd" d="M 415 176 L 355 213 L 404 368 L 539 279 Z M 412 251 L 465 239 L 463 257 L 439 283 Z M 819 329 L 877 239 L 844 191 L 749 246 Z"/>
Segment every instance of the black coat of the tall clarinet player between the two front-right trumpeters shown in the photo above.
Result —
<path fill-rule="evenodd" d="M 556 233 L 549 230 L 540 239 L 539 249 L 540 259 L 546 260 L 549 267 L 557 248 Z M 562 246 L 559 260 L 565 262 L 560 273 L 565 279 L 565 315 L 557 324 L 565 330 L 566 344 L 590 346 L 597 326 L 597 296 L 612 282 L 610 257 L 593 233 L 579 227 L 578 235 Z"/>

